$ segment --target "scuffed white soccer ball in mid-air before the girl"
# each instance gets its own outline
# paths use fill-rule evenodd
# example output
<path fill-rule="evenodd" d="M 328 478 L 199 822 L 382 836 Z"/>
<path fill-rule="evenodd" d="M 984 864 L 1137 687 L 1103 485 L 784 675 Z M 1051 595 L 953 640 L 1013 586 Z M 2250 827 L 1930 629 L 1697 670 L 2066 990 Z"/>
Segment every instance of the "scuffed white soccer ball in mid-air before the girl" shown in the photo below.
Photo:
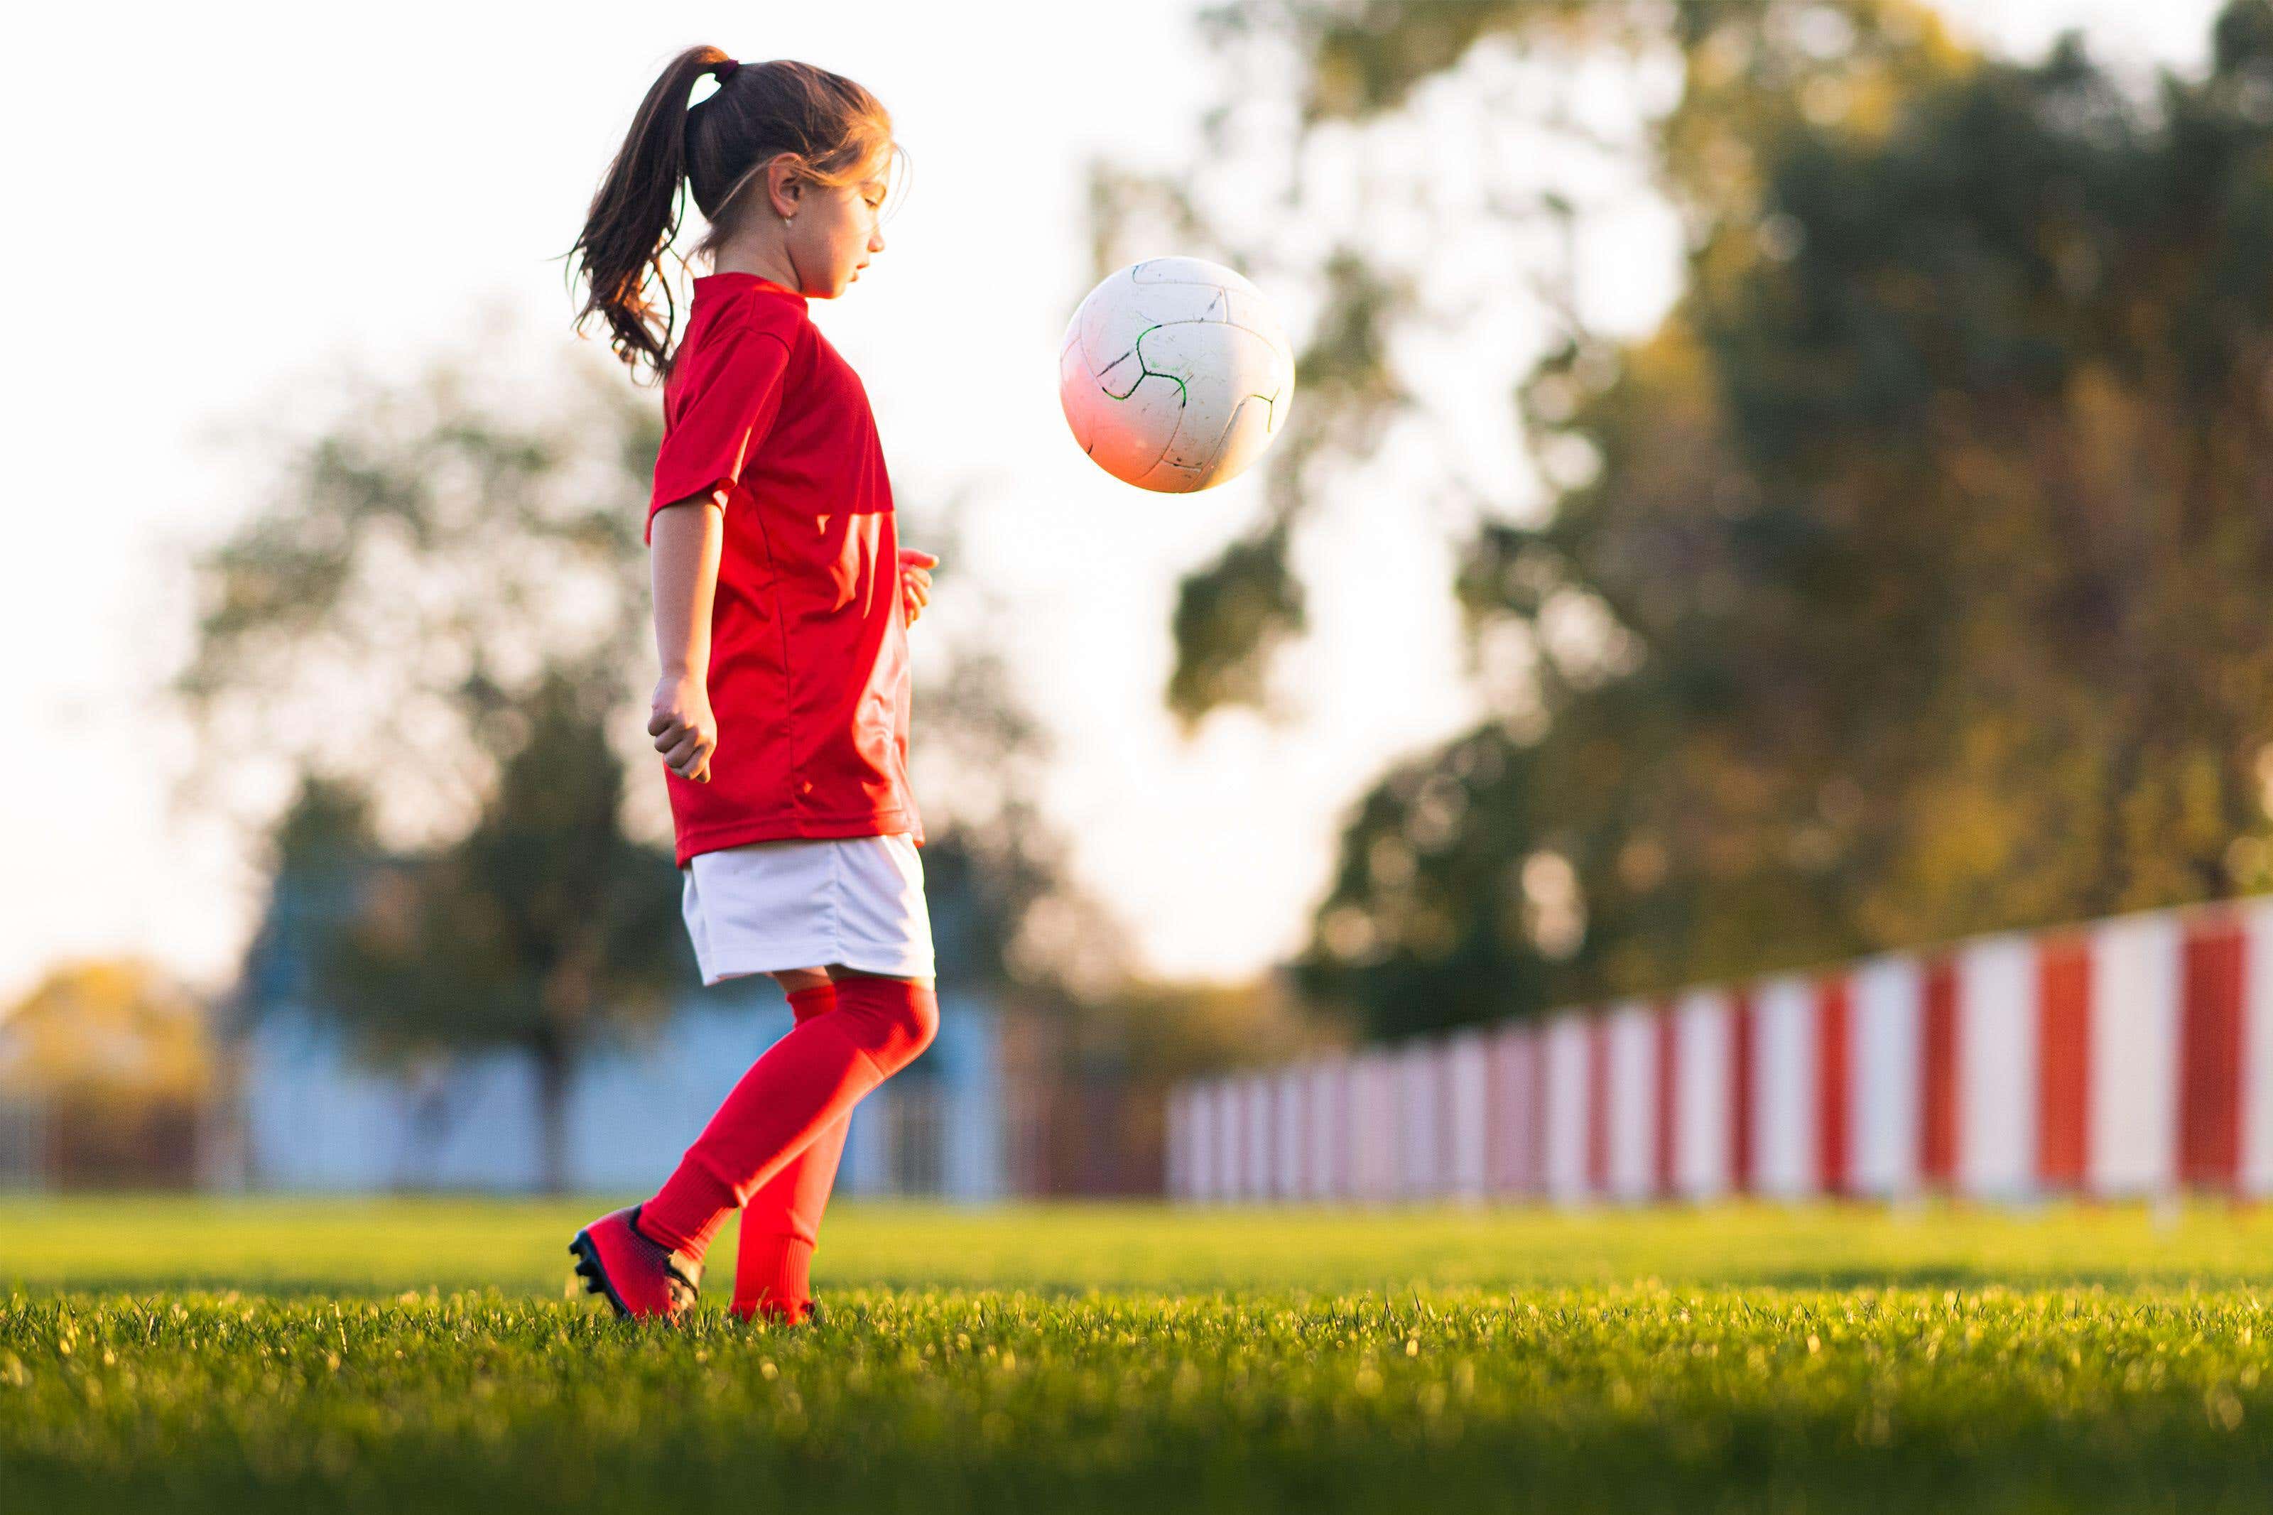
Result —
<path fill-rule="evenodd" d="M 1073 311 L 1057 400 L 1098 468 L 1189 495 L 1237 479 L 1284 429 L 1293 350 L 1243 277 L 1155 257 L 1109 275 Z"/>

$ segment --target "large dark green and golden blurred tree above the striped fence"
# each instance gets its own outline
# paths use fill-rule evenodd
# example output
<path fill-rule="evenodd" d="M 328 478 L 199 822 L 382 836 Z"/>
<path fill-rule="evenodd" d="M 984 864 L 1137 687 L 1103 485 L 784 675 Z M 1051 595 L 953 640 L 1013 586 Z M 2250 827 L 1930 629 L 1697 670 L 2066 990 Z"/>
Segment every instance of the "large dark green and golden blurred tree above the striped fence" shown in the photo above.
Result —
<path fill-rule="evenodd" d="M 1646 9 L 1239 9 L 1307 127 L 1487 34 L 1677 59 L 1687 291 L 1616 343 L 1546 282 L 1552 500 L 1457 581 L 1525 679 L 1359 804 L 1305 984 L 1387 1033 L 2273 881 L 2273 7 L 2153 102 L 1914 5 Z"/>

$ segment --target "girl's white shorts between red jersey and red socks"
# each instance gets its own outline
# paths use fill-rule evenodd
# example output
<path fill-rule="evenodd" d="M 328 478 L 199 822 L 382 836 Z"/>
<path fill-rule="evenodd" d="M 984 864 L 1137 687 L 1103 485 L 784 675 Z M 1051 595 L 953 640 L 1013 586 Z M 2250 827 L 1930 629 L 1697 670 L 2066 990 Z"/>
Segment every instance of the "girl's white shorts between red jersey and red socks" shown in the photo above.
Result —
<path fill-rule="evenodd" d="M 932 977 L 923 859 L 905 834 L 721 847 L 680 877 L 702 984 L 830 963 Z"/>

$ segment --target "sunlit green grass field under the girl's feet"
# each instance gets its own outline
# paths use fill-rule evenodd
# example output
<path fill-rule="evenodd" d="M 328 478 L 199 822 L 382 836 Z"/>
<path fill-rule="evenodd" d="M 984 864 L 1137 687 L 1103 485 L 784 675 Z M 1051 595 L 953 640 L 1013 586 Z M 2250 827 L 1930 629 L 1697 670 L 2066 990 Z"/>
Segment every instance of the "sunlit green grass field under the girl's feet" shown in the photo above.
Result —
<path fill-rule="evenodd" d="M 2255 1211 L 846 1202 L 800 1333 L 598 1208 L 0 1202 L 0 1508 L 2273 1506 Z"/>

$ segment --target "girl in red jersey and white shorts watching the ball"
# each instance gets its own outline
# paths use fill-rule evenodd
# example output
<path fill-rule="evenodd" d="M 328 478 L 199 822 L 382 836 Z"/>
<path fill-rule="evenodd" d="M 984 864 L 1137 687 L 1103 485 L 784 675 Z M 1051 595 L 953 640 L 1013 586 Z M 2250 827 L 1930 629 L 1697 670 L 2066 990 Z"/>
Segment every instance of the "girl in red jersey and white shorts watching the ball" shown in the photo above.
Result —
<path fill-rule="evenodd" d="M 686 104 L 700 77 L 716 93 Z M 891 116 L 852 79 L 689 48 L 593 198 L 580 257 L 611 348 L 664 379 L 648 500 L 661 679 L 648 734 L 705 984 L 773 974 L 791 1031 L 743 1074 L 646 1204 L 577 1231 L 589 1290 L 675 1317 L 741 1206 L 734 1313 L 802 1322 L 852 1106 L 939 1029 L 923 820 L 907 788 L 902 552 L 868 393 L 807 320 L 884 250 Z M 661 254 L 680 179 L 709 220 L 686 334 Z M 650 273 L 664 307 L 648 298 Z"/>

